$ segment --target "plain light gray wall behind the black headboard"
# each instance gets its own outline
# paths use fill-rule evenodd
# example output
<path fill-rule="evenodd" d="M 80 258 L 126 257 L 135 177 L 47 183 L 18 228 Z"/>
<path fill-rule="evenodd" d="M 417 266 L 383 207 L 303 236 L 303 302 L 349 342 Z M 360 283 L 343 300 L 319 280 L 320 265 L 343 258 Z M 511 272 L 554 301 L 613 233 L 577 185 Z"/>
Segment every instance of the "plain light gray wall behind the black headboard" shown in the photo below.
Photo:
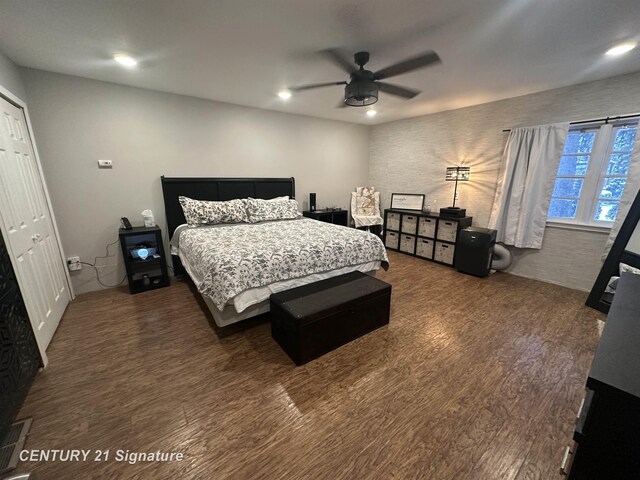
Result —
<path fill-rule="evenodd" d="M 369 128 L 21 70 L 35 137 L 65 253 L 105 255 L 119 219 L 142 224 L 151 208 L 166 225 L 160 176 L 290 177 L 300 207 L 348 208 L 368 179 Z M 113 161 L 99 170 L 98 159 Z M 119 249 L 110 248 L 110 253 Z M 101 279 L 124 276 L 120 253 Z M 105 260 L 100 260 L 104 263 Z M 99 288 L 88 267 L 73 272 L 76 293 Z"/>

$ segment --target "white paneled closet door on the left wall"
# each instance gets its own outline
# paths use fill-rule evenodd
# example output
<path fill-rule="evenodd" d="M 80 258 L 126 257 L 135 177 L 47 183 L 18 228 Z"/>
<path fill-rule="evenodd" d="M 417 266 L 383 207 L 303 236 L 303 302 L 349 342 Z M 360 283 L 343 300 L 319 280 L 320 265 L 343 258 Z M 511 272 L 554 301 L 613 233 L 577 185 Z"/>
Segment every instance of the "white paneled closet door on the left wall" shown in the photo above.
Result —
<path fill-rule="evenodd" d="M 64 260 L 22 109 L 0 98 L 0 215 L 42 353 L 69 303 Z"/>

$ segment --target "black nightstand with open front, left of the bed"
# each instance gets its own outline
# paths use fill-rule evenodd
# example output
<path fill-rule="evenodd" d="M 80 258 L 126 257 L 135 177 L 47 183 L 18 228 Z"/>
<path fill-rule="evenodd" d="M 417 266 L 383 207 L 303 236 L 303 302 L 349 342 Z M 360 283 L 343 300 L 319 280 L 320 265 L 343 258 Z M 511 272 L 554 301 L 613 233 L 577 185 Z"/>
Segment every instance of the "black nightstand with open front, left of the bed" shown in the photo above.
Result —
<path fill-rule="evenodd" d="M 120 246 L 131 293 L 169 286 L 162 232 L 158 227 L 121 228 Z M 141 248 L 147 250 L 148 256 L 144 259 L 138 254 Z"/>

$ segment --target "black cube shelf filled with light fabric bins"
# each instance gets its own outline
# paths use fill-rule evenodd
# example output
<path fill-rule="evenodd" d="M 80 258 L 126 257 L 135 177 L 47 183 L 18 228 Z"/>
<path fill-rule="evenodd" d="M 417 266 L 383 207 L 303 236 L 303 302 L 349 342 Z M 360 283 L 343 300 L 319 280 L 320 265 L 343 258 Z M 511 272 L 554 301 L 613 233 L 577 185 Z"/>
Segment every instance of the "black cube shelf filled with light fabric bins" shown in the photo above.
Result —
<path fill-rule="evenodd" d="M 453 266 L 458 231 L 473 217 L 443 217 L 413 210 L 384 211 L 384 244 L 415 257 Z"/>

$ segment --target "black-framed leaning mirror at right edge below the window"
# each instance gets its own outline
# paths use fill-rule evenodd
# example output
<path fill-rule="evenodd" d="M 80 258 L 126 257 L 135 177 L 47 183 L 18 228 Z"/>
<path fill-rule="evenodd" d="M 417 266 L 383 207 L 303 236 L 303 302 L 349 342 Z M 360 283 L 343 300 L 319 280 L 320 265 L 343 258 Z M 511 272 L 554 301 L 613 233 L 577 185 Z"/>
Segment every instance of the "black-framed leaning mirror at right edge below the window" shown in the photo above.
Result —
<path fill-rule="evenodd" d="M 611 302 L 615 295 L 615 289 L 609 287 L 611 277 L 620 275 L 620 263 L 625 263 L 631 267 L 640 269 L 640 192 L 629 208 L 627 218 L 620 226 L 620 231 L 616 237 L 611 250 L 607 255 L 598 278 L 596 278 L 591 293 L 587 298 L 586 305 L 608 313 Z M 615 282 L 612 284 L 615 287 Z"/>

